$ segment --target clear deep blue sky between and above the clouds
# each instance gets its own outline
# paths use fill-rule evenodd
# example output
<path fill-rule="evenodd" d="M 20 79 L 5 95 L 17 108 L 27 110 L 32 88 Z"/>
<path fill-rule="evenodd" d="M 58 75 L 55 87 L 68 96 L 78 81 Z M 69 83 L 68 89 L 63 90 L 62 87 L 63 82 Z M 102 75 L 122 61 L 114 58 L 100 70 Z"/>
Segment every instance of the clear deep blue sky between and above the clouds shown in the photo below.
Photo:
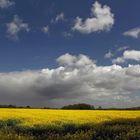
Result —
<path fill-rule="evenodd" d="M 90 16 L 93 0 L 61 0 L 61 2 L 16 0 L 15 4 L 1 8 L 0 71 L 54 67 L 55 59 L 66 52 L 87 54 L 97 59 L 99 64 L 105 65 L 110 64 L 110 61 L 104 59 L 104 54 L 108 50 L 115 51 L 123 46 L 139 49 L 139 39 L 125 37 L 122 34 L 131 28 L 139 27 L 140 2 L 138 0 L 133 4 L 128 0 L 99 2 L 111 8 L 115 22 L 108 32 L 97 31 L 90 34 L 72 31 L 72 27 L 77 16 L 83 19 Z M 65 19 L 51 23 L 61 13 Z M 13 21 L 14 15 L 18 15 L 30 28 L 29 32 L 19 32 L 16 41 L 8 38 L 6 33 L 6 24 Z M 46 34 L 41 31 L 44 26 L 49 27 Z M 65 33 L 72 36 L 64 37 Z"/>

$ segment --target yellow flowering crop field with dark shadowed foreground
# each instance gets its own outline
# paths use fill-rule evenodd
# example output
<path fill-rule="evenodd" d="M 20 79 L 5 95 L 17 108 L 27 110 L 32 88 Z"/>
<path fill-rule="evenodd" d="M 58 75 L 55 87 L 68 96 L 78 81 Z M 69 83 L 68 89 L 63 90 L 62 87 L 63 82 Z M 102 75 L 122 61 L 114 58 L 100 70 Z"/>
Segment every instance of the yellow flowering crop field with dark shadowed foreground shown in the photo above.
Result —
<path fill-rule="evenodd" d="M 140 111 L 0 109 L 1 140 L 140 140 Z"/>

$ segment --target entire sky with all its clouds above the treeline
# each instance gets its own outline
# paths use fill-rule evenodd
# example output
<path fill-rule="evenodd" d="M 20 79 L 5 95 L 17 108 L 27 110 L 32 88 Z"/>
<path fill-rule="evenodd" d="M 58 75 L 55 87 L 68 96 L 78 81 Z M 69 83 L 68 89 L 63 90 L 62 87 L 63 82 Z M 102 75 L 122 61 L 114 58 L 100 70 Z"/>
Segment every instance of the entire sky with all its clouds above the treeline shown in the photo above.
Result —
<path fill-rule="evenodd" d="M 0 0 L 0 104 L 140 106 L 139 0 Z"/>

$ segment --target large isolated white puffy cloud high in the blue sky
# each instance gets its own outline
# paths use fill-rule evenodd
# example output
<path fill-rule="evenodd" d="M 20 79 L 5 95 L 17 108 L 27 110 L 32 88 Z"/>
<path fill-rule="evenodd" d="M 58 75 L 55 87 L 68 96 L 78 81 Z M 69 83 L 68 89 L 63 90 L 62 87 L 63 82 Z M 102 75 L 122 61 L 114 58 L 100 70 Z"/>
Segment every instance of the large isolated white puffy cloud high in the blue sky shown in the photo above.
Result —
<path fill-rule="evenodd" d="M 74 31 L 83 34 L 90 34 L 97 31 L 109 31 L 114 24 L 114 14 L 111 13 L 111 8 L 107 5 L 103 7 L 99 2 L 95 2 L 91 8 L 91 17 L 83 20 L 77 17 L 73 26 Z"/>

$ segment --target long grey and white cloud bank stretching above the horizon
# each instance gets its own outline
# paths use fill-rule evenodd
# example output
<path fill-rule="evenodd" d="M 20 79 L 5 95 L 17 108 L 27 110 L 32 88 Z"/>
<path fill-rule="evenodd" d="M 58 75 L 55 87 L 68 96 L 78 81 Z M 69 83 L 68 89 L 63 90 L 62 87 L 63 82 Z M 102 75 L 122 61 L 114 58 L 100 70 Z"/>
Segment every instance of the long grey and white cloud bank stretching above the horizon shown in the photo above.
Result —
<path fill-rule="evenodd" d="M 140 65 L 98 66 L 80 54 L 64 54 L 55 69 L 0 73 L 0 103 L 60 107 L 86 102 L 94 105 L 137 106 Z"/>

